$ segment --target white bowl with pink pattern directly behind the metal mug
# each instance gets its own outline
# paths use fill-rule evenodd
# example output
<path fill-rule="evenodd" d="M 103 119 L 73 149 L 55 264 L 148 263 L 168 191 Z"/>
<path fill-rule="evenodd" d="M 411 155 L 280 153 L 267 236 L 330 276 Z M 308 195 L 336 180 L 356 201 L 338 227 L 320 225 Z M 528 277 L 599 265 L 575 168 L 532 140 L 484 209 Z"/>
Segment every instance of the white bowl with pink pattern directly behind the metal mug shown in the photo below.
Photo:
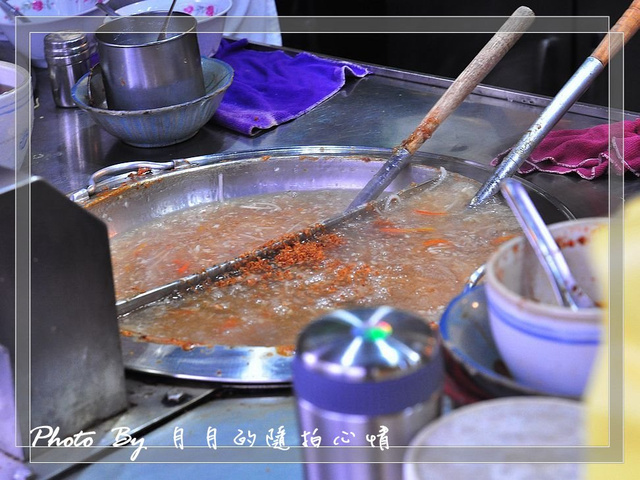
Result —
<path fill-rule="evenodd" d="M 170 2 L 169 2 L 170 4 Z M 232 6 L 232 0 L 178 0 L 175 11 L 188 13 L 198 21 L 198 46 L 200 55 L 209 57 L 216 53 L 222 40 L 224 17 Z M 120 15 L 166 11 L 165 0 L 143 0 L 116 10 Z"/>

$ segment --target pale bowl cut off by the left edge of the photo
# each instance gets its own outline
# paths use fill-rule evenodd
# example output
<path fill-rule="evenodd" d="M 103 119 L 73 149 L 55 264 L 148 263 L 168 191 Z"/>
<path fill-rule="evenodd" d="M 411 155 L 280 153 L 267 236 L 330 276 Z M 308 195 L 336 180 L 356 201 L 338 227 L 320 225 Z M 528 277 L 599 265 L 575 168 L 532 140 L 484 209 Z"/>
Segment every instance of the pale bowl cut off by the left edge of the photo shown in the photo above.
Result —
<path fill-rule="evenodd" d="M 29 153 L 33 125 L 29 72 L 19 65 L 0 62 L 0 84 L 13 88 L 0 94 L 0 165 L 18 169 Z"/>

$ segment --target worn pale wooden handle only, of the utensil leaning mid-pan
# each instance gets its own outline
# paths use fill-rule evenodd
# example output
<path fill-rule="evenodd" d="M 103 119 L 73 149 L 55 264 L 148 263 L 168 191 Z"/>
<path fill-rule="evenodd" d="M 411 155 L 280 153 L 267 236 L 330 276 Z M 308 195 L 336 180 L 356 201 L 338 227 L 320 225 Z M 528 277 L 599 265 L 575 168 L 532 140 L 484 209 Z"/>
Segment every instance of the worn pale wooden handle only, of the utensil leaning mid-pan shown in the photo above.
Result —
<path fill-rule="evenodd" d="M 640 2 L 640 0 L 636 0 Z M 518 7 L 500 30 L 489 40 L 471 63 L 458 75 L 442 97 L 424 117 L 418 128 L 402 143 L 410 153 L 415 153 L 433 135 L 440 123 L 453 112 L 496 66 L 534 20 L 533 11 Z"/>

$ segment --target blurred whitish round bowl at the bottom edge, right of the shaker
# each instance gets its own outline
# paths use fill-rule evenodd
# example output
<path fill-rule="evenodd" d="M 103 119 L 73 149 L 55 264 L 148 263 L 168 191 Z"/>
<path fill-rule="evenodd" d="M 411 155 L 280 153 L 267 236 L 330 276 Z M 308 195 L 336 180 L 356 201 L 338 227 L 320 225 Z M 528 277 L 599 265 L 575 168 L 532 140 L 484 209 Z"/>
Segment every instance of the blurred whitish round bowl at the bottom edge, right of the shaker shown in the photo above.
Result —
<path fill-rule="evenodd" d="M 580 402 L 550 397 L 500 398 L 458 408 L 414 437 L 402 478 L 582 478 L 577 462 L 585 444 L 583 417 Z"/>

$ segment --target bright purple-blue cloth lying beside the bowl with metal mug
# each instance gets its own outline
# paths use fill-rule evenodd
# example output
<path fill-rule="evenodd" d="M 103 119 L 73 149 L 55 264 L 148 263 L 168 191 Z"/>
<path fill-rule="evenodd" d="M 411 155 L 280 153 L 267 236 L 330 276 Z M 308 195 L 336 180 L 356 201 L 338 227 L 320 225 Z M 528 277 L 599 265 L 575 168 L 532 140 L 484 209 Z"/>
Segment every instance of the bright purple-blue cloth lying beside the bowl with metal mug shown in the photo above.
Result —
<path fill-rule="evenodd" d="M 299 117 L 337 93 L 346 74 L 364 77 L 369 70 L 308 53 L 291 57 L 246 48 L 247 40 L 222 39 L 215 58 L 228 63 L 234 78 L 213 120 L 245 135 Z"/>

